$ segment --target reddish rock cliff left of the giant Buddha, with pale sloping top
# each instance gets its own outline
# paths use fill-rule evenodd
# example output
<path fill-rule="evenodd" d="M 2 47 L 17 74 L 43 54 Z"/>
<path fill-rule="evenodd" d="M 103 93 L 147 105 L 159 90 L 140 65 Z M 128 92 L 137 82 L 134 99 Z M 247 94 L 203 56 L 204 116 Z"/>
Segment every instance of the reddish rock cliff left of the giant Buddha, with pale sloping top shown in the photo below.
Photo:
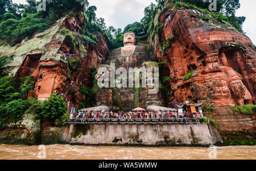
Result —
<path fill-rule="evenodd" d="M 14 55 L 14 60 L 3 67 L 6 76 L 34 76 L 38 80 L 31 97 L 43 101 L 54 92 L 63 93 L 77 107 L 79 99 L 85 98 L 79 93 L 79 86 L 92 82 L 90 67 L 102 64 L 109 56 L 106 36 L 94 35 L 98 39 L 96 45 L 82 43 L 77 34 L 85 29 L 84 16 L 82 12 L 75 15 L 58 20 L 43 33 L 23 40 L 19 47 L 0 47 L 1 56 Z M 72 31 L 71 36 L 62 33 L 62 29 Z M 72 89 L 76 93 L 68 94 Z"/>

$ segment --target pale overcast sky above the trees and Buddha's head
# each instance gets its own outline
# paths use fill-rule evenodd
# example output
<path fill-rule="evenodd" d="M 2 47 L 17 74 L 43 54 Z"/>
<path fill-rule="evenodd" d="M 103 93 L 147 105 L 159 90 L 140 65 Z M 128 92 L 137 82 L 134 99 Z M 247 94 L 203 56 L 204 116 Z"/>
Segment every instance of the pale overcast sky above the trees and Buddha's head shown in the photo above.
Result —
<path fill-rule="evenodd" d="M 127 24 L 139 22 L 144 16 L 144 8 L 155 0 L 88 0 L 97 7 L 97 18 L 104 18 L 107 26 L 125 28 Z M 26 0 L 13 0 L 14 3 L 26 3 Z M 245 16 L 243 31 L 256 45 L 256 1 L 240 0 L 241 8 L 237 16 Z"/>

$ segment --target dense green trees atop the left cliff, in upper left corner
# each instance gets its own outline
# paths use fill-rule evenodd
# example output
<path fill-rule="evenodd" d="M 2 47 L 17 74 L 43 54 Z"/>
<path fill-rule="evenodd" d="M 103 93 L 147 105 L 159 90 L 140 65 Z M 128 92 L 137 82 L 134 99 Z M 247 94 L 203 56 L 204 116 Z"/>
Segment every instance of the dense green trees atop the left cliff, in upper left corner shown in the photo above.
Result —
<path fill-rule="evenodd" d="M 36 32 L 43 32 L 71 10 L 85 10 L 87 0 L 46 1 L 47 10 L 38 11 L 40 2 L 27 0 L 27 5 L 17 5 L 10 0 L 1 0 L 0 4 L 0 40 L 15 45 Z"/>

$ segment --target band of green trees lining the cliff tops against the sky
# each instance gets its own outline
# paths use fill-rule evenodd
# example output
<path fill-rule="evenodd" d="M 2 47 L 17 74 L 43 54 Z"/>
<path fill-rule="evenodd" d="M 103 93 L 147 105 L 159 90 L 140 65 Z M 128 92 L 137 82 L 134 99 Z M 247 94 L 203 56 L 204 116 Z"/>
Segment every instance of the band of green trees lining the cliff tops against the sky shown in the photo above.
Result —
<path fill-rule="evenodd" d="M 164 4 L 166 2 L 166 4 Z M 95 45 L 98 39 L 95 34 L 105 35 L 108 38 L 109 45 L 112 49 L 123 46 L 123 34 L 126 31 L 133 31 L 137 40 L 152 38 L 158 35 L 158 43 L 162 47 L 163 55 L 166 49 L 171 45 L 170 41 L 162 43 L 160 34 L 163 25 L 160 24 L 160 16 L 170 7 L 179 8 L 184 6 L 189 9 L 196 9 L 203 14 L 210 14 L 222 23 L 231 23 L 237 30 L 242 31 L 242 23 L 245 17 L 236 17 L 234 14 L 240 8 L 239 0 L 220 0 L 217 3 L 217 12 L 208 11 L 209 3 L 204 0 L 156 0 L 156 5 L 151 3 L 144 9 L 144 16 L 140 22 L 128 24 L 122 31 L 121 28 L 110 26 L 106 28 L 105 20 L 96 17 L 96 6 L 89 6 L 87 0 L 59 0 L 47 1 L 47 11 L 37 12 L 36 8 L 40 2 L 27 0 L 27 5 L 17 5 L 11 0 L 0 0 L 0 40 L 7 44 L 15 45 L 20 43 L 24 38 L 31 37 L 36 32 L 43 32 L 49 26 L 63 16 L 75 16 L 74 10 L 82 10 L 85 16 L 84 33 L 80 39 L 84 44 Z M 160 9 L 160 10 L 159 10 Z M 158 12 L 158 23 L 154 26 L 154 17 Z M 77 16 L 75 16 L 77 17 Z M 201 16 L 200 19 L 209 20 L 208 16 Z M 61 30 L 63 34 L 69 34 L 67 30 Z M 72 37 L 71 37 L 72 38 Z M 73 40 L 73 39 L 72 39 Z M 73 40 L 74 41 L 74 40 Z M 72 41 L 72 43 L 73 43 Z M 75 43 L 74 48 L 75 48 Z"/>

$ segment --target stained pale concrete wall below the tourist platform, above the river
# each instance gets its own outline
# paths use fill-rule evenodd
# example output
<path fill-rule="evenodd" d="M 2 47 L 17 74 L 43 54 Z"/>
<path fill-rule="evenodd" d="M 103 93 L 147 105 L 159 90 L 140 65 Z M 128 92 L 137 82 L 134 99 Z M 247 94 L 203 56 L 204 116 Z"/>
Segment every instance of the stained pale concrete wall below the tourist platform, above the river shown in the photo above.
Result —
<path fill-rule="evenodd" d="M 222 143 L 209 124 L 88 124 L 63 128 L 61 139 L 69 144 L 208 146 Z"/>

